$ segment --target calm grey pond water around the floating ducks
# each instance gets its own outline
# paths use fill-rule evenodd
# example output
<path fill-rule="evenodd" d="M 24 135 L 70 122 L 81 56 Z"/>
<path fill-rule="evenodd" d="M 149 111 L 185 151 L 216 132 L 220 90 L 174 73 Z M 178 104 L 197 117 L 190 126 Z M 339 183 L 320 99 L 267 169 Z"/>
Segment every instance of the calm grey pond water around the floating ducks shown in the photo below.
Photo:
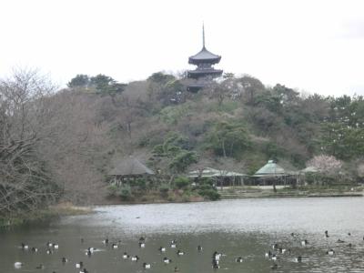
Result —
<path fill-rule="evenodd" d="M 2 230 L 0 272 L 78 273 L 79 261 L 90 273 L 364 272 L 363 205 L 362 197 L 318 197 L 95 207 L 95 214 Z M 171 248 L 172 240 L 177 248 Z M 304 240 L 308 244 L 302 246 Z M 285 253 L 272 248 L 276 243 Z M 91 247 L 96 250 L 87 256 Z M 265 257 L 269 250 L 277 260 Z M 212 268 L 215 251 L 222 254 L 218 269 Z M 124 252 L 130 257 L 123 258 Z M 133 256 L 139 259 L 132 261 Z M 236 261 L 239 257 L 242 262 Z M 15 268 L 16 261 L 22 267 Z"/>

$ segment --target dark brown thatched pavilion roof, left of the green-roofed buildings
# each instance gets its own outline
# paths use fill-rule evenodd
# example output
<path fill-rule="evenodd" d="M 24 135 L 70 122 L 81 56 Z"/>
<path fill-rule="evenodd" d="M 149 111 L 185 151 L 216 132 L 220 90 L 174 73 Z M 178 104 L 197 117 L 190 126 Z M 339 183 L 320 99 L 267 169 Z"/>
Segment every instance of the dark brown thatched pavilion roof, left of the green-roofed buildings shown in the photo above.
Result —
<path fill-rule="evenodd" d="M 109 176 L 116 176 L 119 178 L 152 176 L 154 174 L 154 171 L 133 157 L 124 158 L 114 169 L 108 173 Z"/>

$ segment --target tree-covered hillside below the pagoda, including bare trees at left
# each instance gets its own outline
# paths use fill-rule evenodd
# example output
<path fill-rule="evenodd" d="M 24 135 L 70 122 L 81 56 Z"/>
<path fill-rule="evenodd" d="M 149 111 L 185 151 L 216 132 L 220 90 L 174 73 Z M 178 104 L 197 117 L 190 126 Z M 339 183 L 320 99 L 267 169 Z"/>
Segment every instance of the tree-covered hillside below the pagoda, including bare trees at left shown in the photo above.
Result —
<path fill-rule="evenodd" d="M 253 174 L 268 159 L 295 170 L 321 154 L 344 162 L 345 179 L 364 177 L 362 96 L 299 94 L 232 74 L 197 93 L 185 82 L 78 75 L 57 90 L 34 71 L 3 79 L 0 214 L 59 199 L 103 202 L 107 172 L 127 155 L 165 179 L 196 167 Z"/>

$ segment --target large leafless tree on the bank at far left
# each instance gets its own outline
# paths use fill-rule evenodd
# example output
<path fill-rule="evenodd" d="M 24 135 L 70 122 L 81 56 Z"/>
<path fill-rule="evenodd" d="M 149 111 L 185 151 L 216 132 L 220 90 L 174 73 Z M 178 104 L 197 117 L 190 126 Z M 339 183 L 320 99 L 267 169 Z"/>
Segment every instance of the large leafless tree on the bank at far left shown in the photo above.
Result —
<path fill-rule="evenodd" d="M 15 70 L 0 80 L 0 215 L 33 210 L 56 199 L 56 184 L 37 154 L 47 137 L 40 128 L 53 90 L 36 70 Z"/>

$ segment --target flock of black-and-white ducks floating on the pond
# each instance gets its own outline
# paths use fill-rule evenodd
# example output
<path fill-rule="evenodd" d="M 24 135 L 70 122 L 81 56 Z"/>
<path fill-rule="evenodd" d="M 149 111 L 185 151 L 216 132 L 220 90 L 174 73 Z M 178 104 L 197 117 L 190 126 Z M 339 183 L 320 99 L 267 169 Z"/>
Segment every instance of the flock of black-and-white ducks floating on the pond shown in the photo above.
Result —
<path fill-rule="evenodd" d="M 348 233 L 348 236 L 350 237 L 351 234 Z M 291 233 L 290 237 L 293 239 L 293 241 L 298 242 L 299 246 L 301 248 L 308 248 L 310 246 L 310 243 L 308 242 L 308 239 L 302 239 L 299 238 L 299 235 L 296 233 Z M 326 230 L 324 232 L 324 237 L 327 239 L 328 242 L 328 246 L 329 246 L 329 231 Z M 364 237 L 362 238 L 362 240 L 364 240 Z M 85 240 L 83 238 L 81 238 L 81 243 L 84 244 Z M 345 244 L 346 241 L 342 240 L 341 238 L 339 238 L 338 240 L 331 240 L 331 243 L 336 243 L 336 244 Z M 104 244 L 105 248 L 111 248 L 111 249 L 118 249 L 121 246 L 121 241 L 118 240 L 117 242 L 111 242 L 108 238 L 104 239 L 102 241 L 102 243 Z M 281 258 L 283 258 L 283 256 L 287 256 L 290 257 L 290 259 L 294 262 L 300 263 L 303 262 L 304 260 L 307 260 L 308 258 L 303 258 L 302 255 L 294 255 L 294 252 L 298 253 L 299 250 L 297 251 L 292 251 L 290 248 L 287 248 L 288 243 L 274 243 L 271 246 L 271 249 L 269 249 L 264 257 L 271 260 L 272 261 L 272 265 L 270 266 L 271 270 L 276 270 L 278 268 L 281 268 L 283 265 L 282 263 L 279 263 L 279 261 L 281 260 Z M 331 244 L 332 245 L 332 244 Z M 141 237 L 138 239 L 138 247 L 139 248 L 146 248 L 146 238 Z M 353 245 L 352 243 L 349 243 L 347 245 L 348 248 L 352 248 Z M 23 251 L 29 251 L 29 252 L 38 252 L 38 248 L 35 247 L 29 247 L 27 244 L 25 244 L 24 242 L 21 243 L 21 245 L 19 246 L 19 248 L 21 248 Z M 59 248 L 59 245 L 57 243 L 53 243 L 53 242 L 46 242 L 45 244 L 45 248 L 41 248 L 42 251 L 45 251 L 45 253 L 47 255 L 51 255 L 54 252 L 57 251 L 57 249 Z M 176 251 L 176 255 L 177 257 L 181 257 L 185 255 L 185 252 L 181 249 L 177 248 L 177 240 L 173 239 L 169 242 L 169 248 L 175 248 L 177 249 Z M 197 246 L 197 252 L 202 252 L 203 248 L 198 245 Z M 94 247 L 88 247 L 85 249 L 85 255 L 86 257 L 90 258 L 91 256 L 93 256 L 97 251 L 101 251 L 103 249 L 101 248 L 94 248 Z M 172 264 L 173 261 L 171 258 L 167 258 L 166 255 L 166 251 L 167 248 L 161 246 L 160 248 L 156 249 L 162 257 L 161 262 L 163 262 L 164 264 Z M 169 252 L 169 251 L 168 251 Z M 301 253 L 303 253 L 303 250 L 301 251 Z M 328 256 L 333 256 L 335 255 L 335 250 L 334 248 L 328 248 L 328 250 L 325 253 Z M 211 260 L 211 265 L 212 268 L 214 269 L 218 269 L 220 268 L 220 261 L 223 257 L 225 257 L 226 255 L 222 254 L 221 252 L 218 251 L 214 251 L 212 254 L 212 260 Z M 137 255 L 129 255 L 127 252 L 124 252 L 121 256 L 121 258 L 123 260 L 130 260 L 131 262 L 138 262 L 138 260 L 140 259 Z M 237 263 L 243 263 L 245 258 L 239 256 L 234 258 L 235 262 Z M 70 260 L 66 257 L 62 257 L 60 260 L 60 263 L 65 265 L 66 263 L 68 263 Z M 155 265 L 155 264 L 154 264 Z M 153 265 L 153 266 L 154 266 Z M 14 264 L 14 267 L 19 269 L 22 268 L 24 266 L 24 264 L 20 261 L 16 261 Z M 153 267 L 151 263 L 148 263 L 146 261 L 144 261 L 142 263 L 142 268 L 144 270 L 150 269 Z M 35 269 L 44 269 L 45 266 L 43 264 L 39 264 L 38 266 L 36 266 Z M 89 273 L 88 269 L 86 269 L 86 262 L 83 261 L 78 261 L 75 263 L 75 268 L 76 270 L 79 271 L 79 273 Z M 173 271 L 174 272 L 179 272 L 179 268 L 177 266 L 173 267 Z M 56 271 L 53 271 L 52 273 L 56 273 Z"/>

